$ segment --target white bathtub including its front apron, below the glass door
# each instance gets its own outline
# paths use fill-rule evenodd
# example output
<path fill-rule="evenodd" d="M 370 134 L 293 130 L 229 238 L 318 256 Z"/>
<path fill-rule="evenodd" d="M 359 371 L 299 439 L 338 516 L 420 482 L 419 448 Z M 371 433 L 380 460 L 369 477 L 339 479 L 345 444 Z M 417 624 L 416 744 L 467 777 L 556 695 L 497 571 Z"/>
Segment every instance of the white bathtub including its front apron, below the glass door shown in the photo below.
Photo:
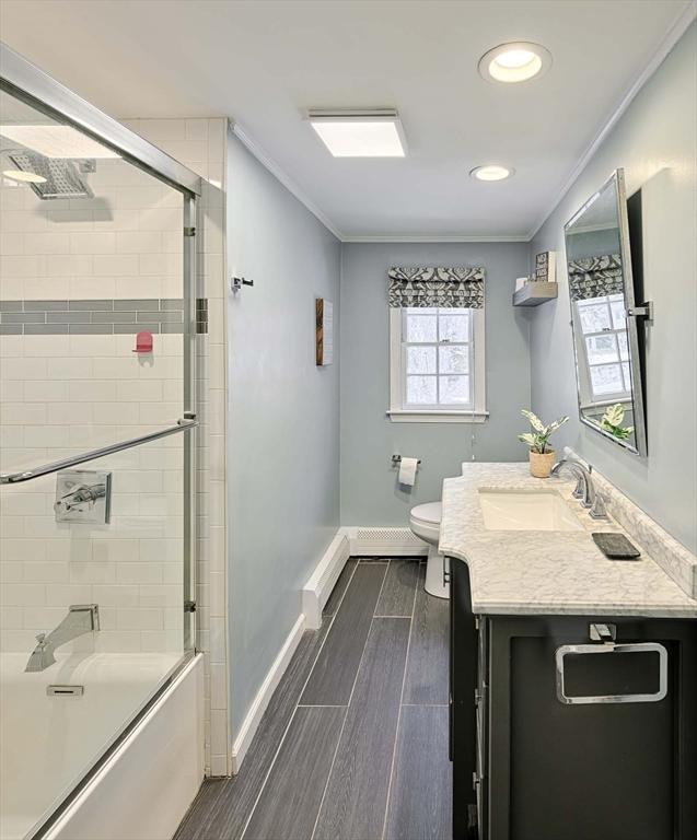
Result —
<path fill-rule="evenodd" d="M 37 833 L 112 746 L 40 837 L 169 840 L 204 775 L 201 657 L 179 670 L 176 654 L 56 658 L 26 674 L 26 654 L 0 656 L 0 839 Z M 163 682 L 142 719 L 115 743 Z M 49 685 L 84 686 L 84 692 L 49 696 Z"/>

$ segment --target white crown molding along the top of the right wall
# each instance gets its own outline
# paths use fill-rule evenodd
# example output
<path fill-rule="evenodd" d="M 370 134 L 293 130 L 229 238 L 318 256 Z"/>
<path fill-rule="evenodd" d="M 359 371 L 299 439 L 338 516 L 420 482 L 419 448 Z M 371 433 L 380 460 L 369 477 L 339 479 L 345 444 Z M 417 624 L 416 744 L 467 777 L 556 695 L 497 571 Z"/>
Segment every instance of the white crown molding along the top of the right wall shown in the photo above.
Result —
<path fill-rule="evenodd" d="M 644 67 L 643 71 L 632 82 L 632 84 L 628 88 L 628 90 L 625 91 L 624 96 L 622 97 L 622 100 L 619 101 L 619 103 L 611 114 L 609 118 L 604 122 L 604 125 L 597 131 L 597 133 L 591 141 L 590 145 L 585 149 L 585 151 L 579 159 L 576 166 L 571 170 L 569 176 L 564 183 L 564 186 L 561 187 L 561 190 L 557 196 L 557 200 L 554 202 L 554 205 L 549 210 L 545 211 L 544 215 L 542 215 L 538 219 L 538 221 L 535 223 L 535 225 L 531 229 L 531 232 L 530 234 L 527 234 L 527 237 L 526 237 L 527 242 L 532 242 L 532 240 L 535 238 L 535 236 L 539 232 L 541 228 L 545 224 L 547 219 L 549 219 L 549 217 L 559 207 L 559 205 L 561 203 L 561 200 L 564 199 L 566 194 L 571 189 L 571 187 L 576 183 L 579 175 L 588 166 L 588 164 L 590 163 L 595 152 L 600 149 L 600 147 L 605 141 L 607 135 L 613 130 L 613 128 L 618 122 L 623 114 L 627 110 L 627 108 L 629 107 L 629 105 L 631 104 L 636 95 L 639 93 L 639 91 L 643 88 L 643 85 L 649 81 L 649 79 L 653 75 L 653 73 L 655 73 L 659 67 L 663 63 L 669 52 L 673 49 L 673 47 L 677 44 L 677 42 L 683 37 L 685 32 L 687 31 L 687 27 L 692 24 L 695 18 L 697 18 L 697 1 L 693 0 L 689 3 L 689 5 L 686 7 L 681 12 L 681 14 L 678 14 L 678 16 L 675 19 L 670 30 L 666 32 L 665 37 L 660 43 L 658 49 L 651 57 L 651 60 Z"/>

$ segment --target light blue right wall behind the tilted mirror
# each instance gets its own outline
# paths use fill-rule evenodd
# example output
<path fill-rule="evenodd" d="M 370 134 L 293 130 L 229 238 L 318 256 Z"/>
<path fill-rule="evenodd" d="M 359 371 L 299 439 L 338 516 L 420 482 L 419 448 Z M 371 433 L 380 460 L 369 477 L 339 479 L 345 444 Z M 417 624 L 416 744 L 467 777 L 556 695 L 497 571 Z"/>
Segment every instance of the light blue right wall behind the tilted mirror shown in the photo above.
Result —
<path fill-rule="evenodd" d="M 544 417 L 571 415 L 560 438 L 690 550 L 697 550 L 697 67 L 693 24 L 535 236 L 531 255 L 559 254 L 560 290 L 531 318 L 532 396 Z M 642 191 L 649 456 L 578 421 L 564 223 L 617 167 Z"/>

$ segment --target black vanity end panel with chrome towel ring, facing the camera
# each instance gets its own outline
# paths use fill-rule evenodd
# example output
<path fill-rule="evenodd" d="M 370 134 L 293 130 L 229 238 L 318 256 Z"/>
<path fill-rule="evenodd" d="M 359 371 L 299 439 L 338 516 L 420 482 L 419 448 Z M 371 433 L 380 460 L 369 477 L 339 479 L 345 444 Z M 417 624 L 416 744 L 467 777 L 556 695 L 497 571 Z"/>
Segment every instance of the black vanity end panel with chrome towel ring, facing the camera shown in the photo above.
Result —
<path fill-rule="evenodd" d="M 594 622 L 618 642 L 667 651 L 667 692 L 651 702 L 568 704 L 556 652 L 589 642 Z M 623 618 L 493 619 L 490 625 L 490 840 L 694 840 L 697 837 L 697 628 Z M 651 695 L 654 656 L 578 656 L 574 696 Z"/>

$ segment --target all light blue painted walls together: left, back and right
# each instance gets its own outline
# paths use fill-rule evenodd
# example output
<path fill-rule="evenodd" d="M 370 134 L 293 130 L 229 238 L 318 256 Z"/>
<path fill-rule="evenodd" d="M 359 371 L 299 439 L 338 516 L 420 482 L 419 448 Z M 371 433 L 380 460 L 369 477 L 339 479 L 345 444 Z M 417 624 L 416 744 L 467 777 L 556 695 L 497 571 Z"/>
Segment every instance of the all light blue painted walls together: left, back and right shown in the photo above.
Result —
<path fill-rule="evenodd" d="M 230 301 L 228 312 L 233 737 L 300 614 L 300 587 L 339 522 L 405 525 L 409 508 L 440 498 L 442 479 L 456 475 L 473 453 L 479 460 L 524 459 L 515 435 L 523 428 L 520 408 L 531 398 L 545 418 L 572 416 L 557 448 L 572 445 L 677 539 L 697 549 L 695 37 L 693 25 L 530 246 L 340 247 L 231 139 L 229 273 L 255 281 Z M 629 194 L 642 188 L 644 285 L 655 304 L 648 340 L 647 459 L 577 420 L 562 225 L 618 166 L 625 167 Z M 514 278 L 526 273 L 532 256 L 545 249 L 559 255 L 558 301 L 514 310 Z M 491 416 L 484 424 L 405 424 L 385 417 L 386 271 L 409 264 L 487 269 Z M 340 352 L 333 366 L 320 370 L 314 364 L 315 296 L 333 300 L 337 327 L 340 320 Z M 410 493 L 397 488 L 393 452 L 422 458 Z"/>

